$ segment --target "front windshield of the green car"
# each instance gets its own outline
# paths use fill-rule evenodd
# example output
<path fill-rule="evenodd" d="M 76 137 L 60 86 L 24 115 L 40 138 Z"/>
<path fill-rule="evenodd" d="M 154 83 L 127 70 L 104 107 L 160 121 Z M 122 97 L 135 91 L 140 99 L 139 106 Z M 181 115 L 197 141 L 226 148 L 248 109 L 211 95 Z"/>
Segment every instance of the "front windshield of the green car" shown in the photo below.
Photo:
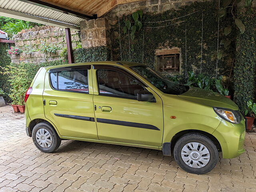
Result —
<path fill-rule="evenodd" d="M 133 66 L 130 68 L 166 94 L 180 95 L 184 92 L 187 92 L 189 89 L 189 86 L 176 84 L 170 81 L 164 75 L 147 66 Z"/>

